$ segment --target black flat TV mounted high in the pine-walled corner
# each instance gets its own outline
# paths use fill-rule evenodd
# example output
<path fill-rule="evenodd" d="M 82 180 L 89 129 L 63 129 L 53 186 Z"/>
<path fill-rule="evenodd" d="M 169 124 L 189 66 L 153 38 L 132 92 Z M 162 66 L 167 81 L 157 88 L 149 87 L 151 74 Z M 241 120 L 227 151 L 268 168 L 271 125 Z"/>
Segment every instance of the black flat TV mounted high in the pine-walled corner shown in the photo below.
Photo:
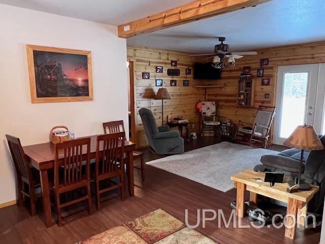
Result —
<path fill-rule="evenodd" d="M 221 69 L 215 69 L 211 63 L 195 63 L 194 79 L 196 80 L 217 80 L 220 79 Z"/>

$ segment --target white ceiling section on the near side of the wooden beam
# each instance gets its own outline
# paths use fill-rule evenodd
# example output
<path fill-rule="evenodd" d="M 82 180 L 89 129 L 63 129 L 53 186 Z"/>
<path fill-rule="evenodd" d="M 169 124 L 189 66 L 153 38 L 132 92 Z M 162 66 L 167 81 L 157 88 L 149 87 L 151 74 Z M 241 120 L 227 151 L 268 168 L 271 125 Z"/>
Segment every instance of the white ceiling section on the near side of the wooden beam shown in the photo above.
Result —
<path fill-rule="evenodd" d="M 193 0 L 0 0 L 1 4 L 119 25 Z"/>

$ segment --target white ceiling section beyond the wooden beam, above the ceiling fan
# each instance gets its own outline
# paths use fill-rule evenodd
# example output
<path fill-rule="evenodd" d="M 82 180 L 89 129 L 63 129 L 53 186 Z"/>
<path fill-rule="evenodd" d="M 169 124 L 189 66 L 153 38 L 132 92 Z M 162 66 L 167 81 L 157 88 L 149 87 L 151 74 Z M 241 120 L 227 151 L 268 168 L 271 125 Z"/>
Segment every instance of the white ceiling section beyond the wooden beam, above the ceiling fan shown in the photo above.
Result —
<path fill-rule="evenodd" d="M 325 0 L 273 0 L 163 31 L 137 36 L 128 44 L 192 53 L 214 52 L 226 37 L 232 51 L 325 40 Z"/>

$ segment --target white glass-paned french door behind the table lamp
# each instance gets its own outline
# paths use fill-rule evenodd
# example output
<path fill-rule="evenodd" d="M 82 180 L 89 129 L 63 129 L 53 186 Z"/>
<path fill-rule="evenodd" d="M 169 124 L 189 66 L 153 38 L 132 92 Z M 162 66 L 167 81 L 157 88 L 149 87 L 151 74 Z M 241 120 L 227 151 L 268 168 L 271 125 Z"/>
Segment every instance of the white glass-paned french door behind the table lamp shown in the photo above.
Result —
<path fill-rule="evenodd" d="M 325 64 L 280 66 L 276 90 L 274 143 L 284 140 L 299 125 L 325 133 Z"/>

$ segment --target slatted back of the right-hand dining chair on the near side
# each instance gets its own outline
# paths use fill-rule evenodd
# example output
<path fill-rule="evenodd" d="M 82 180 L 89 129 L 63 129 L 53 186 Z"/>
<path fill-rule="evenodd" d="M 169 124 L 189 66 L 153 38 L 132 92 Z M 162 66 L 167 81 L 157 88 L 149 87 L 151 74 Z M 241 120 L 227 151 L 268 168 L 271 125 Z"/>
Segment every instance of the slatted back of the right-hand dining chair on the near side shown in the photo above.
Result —
<path fill-rule="evenodd" d="M 124 132 L 97 137 L 96 175 L 109 174 L 121 169 L 123 166 L 124 143 Z"/>

